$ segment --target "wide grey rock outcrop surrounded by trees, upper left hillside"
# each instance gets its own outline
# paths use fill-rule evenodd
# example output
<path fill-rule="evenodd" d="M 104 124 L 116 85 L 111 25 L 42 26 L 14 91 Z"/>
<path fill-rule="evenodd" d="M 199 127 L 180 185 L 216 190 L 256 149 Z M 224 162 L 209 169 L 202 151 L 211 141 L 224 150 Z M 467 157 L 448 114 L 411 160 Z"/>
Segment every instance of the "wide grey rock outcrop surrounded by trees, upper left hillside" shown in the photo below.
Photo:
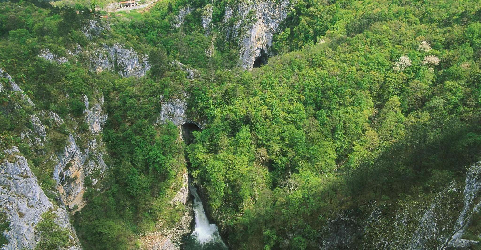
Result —
<path fill-rule="evenodd" d="M 124 77 L 141 77 L 151 68 L 147 55 L 139 55 L 133 48 L 126 49 L 120 44 L 104 44 L 90 51 L 89 59 L 91 71 L 118 69 Z"/>

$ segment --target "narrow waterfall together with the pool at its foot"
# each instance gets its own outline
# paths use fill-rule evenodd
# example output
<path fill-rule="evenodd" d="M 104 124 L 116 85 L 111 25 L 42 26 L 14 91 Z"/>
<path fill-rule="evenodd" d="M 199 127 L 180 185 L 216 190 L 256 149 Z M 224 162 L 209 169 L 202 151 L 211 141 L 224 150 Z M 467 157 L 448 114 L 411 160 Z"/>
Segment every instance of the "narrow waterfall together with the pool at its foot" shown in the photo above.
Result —
<path fill-rule="evenodd" d="M 189 184 L 189 190 L 194 196 L 195 226 L 192 234 L 185 240 L 184 250 L 227 250 L 227 246 L 219 235 L 217 225 L 210 224 L 205 214 L 201 197 L 197 188 Z"/>

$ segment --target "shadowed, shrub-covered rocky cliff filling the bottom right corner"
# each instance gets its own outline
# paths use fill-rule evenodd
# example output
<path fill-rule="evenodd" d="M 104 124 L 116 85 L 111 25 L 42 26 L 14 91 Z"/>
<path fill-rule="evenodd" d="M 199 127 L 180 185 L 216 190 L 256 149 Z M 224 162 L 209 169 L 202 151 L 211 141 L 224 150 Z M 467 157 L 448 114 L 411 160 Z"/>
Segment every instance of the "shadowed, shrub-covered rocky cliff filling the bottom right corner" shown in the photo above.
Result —
<path fill-rule="evenodd" d="M 464 238 L 464 233 L 481 215 L 480 195 L 481 162 L 477 162 L 468 169 L 464 191 L 453 182 L 430 203 L 409 202 L 401 208 L 371 201 L 366 207 L 339 211 L 327 219 L 318 241 L 309 244 L 322 250 L 476 249 L 481 242 Z M 288 247 L 289 239 L 288 234 L 280 247 Z"/>

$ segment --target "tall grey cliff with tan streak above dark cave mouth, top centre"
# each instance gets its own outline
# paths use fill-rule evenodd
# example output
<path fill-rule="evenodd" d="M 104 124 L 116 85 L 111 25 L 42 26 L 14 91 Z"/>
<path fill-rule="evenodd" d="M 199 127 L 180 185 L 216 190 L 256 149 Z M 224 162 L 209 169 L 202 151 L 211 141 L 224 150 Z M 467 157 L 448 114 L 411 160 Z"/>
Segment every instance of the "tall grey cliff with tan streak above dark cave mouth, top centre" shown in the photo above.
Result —
<path fill-rule="evenodd" d="M 227 37 L 239 38 L 241 66 L 252 69 L 256 57 L 262 50 L 269 55 L 268 46 L 278 26 L 287 17 L 289 0 L 241 1 L 237 8 L 226 7 L 225 23 L 234 18 L 234 25 L 228 27 Z"/>

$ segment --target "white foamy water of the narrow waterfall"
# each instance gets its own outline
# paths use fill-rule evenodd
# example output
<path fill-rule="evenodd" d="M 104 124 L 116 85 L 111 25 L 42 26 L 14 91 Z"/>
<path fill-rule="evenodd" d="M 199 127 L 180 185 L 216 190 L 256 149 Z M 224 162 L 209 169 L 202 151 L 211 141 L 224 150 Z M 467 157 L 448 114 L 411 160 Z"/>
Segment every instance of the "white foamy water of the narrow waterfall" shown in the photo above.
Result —
<path fill-rule="evenodd" d="M 207 215 L 205 214 L 202 200 L 197 193 L 197 188 L 189 185 L 190 193 L 194 196 L 194 214 L 195 214 L 195 228 L 192 232 L 191 238 L 195 238 L 197 244 L 211 245 L 215 244 L 219 249 L 228 249 L 226 244 L 222 241 L 219 235 L 217 225 L 210 224 Z"/>

